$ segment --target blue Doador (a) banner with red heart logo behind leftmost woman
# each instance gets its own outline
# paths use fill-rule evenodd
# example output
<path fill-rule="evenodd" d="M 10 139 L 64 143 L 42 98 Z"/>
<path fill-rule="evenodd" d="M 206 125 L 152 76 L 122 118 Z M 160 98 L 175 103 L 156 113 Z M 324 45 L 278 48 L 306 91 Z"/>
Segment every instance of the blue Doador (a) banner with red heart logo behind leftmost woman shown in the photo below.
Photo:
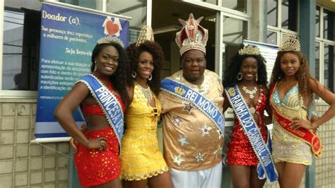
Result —
<path fill-rule="evenodd" d="M 111 35 L 128 45 L 129 20 L 47 3 L 41 14 L 35 137 L 68 136 L 54 119 L 54 109 L 74 83 L 90 73 L 98 39 Z M 78 126 L 83 124 L 78 110 L 74 118 Z"/>

